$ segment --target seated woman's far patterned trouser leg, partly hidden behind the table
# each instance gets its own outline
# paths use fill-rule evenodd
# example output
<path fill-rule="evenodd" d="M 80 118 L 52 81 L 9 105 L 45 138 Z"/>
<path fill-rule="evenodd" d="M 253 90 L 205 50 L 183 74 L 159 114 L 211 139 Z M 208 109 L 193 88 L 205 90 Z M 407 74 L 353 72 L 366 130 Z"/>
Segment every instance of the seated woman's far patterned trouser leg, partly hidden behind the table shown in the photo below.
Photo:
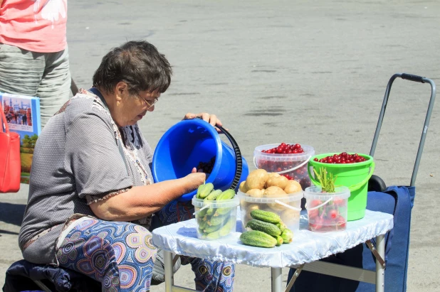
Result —
<path fill-rule="evenodd" d="M 194 218 L 194 206 L 189 202 L 170 202 L 156 212 L 152 228 Z M 235 264 L 230 261 L 209 261 L 207 259 L 180 256 L 182 264 L 191 264 L 197 291 L 229 292 L 234 286 Z M 156 263 L 157 264 L 157 263 Z"/>

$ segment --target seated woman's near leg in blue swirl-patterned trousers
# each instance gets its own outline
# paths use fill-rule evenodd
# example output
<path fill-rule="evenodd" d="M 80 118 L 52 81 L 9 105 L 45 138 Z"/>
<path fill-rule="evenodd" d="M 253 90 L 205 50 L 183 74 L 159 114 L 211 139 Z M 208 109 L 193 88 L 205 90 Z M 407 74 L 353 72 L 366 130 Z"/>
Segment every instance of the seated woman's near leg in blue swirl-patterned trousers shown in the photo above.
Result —
<path fill-rule="evenodd" d="M 102 291 L 150 291 L 156 247 L 151 233 L 129 222 L 90 219 L 61 243 L 63 266 L 102 283 Z"/>

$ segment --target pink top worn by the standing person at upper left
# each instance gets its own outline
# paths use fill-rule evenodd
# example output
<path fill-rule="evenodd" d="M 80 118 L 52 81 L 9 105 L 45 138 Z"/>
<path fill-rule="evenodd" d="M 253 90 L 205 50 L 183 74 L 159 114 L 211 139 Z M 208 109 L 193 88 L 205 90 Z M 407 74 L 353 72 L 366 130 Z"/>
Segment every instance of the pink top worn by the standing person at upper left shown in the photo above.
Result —
<path fill-rule="evenodd" d="M 38 53 L 66 48 L 67 0 L 3 0 L 0 43 Z"/>

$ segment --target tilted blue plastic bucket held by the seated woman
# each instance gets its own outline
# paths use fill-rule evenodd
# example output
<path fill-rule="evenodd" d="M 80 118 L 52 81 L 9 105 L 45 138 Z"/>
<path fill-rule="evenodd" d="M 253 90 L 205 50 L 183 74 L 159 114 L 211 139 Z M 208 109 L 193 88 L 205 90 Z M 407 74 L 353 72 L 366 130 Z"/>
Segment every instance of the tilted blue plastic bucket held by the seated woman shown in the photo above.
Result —
<path fill-rule="evenodd" d="M 231 140 L 232 137 L 228 138 Z M 234 143 L 236 144 L 232 138 L 231 144 Z M 238 146 L 234 148 L 241 157 Z M 212 183 L 215 189 L 227 190 L 231 188 L 236 178 L 237 163 L 234 149 L 221 141 L 216 129 L 208 122 L 201 119 L 179 121 L 165 132 L 154 150 L 152 161 L 154 182 L 183 178 L 191 173 L 192 168 L 197 167 L 199 162 L 208 162 L 213 156 L 216 157 L 216 161 L 206 183 Z M 248 164 L 244 158 L 241 160 L 241 175 L 236 178 L 238 179 L 236 189 L 248 176 Z M 179 201 L 191 200 L 196 193 L 197 190 L 184 194 Z"/>

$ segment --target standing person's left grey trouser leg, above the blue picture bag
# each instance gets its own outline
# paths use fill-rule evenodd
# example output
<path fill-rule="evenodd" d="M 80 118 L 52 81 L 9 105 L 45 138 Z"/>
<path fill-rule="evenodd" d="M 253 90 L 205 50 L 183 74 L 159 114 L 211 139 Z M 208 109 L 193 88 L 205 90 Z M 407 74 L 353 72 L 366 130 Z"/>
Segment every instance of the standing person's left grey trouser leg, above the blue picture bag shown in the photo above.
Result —
<path fill-rule="evenodd" d="M 0 92 L 36 96 L 45 67 L 45 54 L 0 43 Z"/>

